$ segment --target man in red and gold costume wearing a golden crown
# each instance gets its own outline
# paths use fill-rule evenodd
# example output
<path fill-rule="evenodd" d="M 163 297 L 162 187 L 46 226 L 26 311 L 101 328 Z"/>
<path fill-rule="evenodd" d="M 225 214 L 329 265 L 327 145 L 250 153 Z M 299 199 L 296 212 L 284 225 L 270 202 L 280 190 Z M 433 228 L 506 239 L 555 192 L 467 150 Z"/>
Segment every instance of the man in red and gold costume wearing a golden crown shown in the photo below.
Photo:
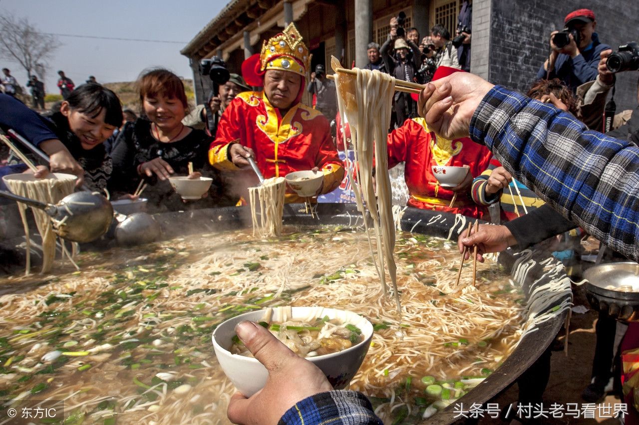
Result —
<path fill-rule="evenodd" d="M 317 195 L 328 193 L 344 176 L 343 163 L 330 135 L 330 124 L 318 111 L 300 103 L 311 55 L 295 25 L 265 41 L 261 54 L 242 64 L 250 86 L 263 91 L 240 93 L 226 108 L 208 158 L 220 170 L 249 167 L 253 156 L 265 179 L 300 170 L 321 170 Z M 286 193 L 286 202 L 303 201 Z"/>

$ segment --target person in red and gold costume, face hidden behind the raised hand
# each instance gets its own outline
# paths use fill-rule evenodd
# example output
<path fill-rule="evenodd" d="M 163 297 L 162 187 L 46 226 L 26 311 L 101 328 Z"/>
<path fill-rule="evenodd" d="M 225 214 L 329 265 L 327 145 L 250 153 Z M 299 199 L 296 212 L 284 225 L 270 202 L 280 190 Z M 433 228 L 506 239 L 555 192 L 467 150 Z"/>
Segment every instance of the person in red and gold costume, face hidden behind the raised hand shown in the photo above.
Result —
<path fill-rule="evenodd" d="M 460 70 L 440 66 L 433 81 Z M 388 138 L 389 168 L 405 162 L 404 180 L 410 192 L 408 205 L 421 209 L 489 220 L 488 209 L 470 198 L 474 177 L 486 170 L 492 154 L 468 137 L 447 140 L 429 130 L 424 118 L 406 120 Z M 465 180 L 454 188 L 443 188 L 433 175 L 433 166 L 469 167 Z M 449 207 L 454 193 L 457 198 Z"/>

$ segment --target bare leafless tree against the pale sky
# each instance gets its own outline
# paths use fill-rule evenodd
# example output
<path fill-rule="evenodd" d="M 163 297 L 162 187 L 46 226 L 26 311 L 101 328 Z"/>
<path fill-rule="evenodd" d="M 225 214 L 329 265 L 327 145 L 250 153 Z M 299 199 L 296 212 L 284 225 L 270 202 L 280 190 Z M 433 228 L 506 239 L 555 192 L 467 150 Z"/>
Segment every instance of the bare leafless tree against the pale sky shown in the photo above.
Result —
<path fill-rule="evenodd" d="M 26 18 L 0 16 L 0 57 L 19 63 L 28 75 L 44 80 L 47 60 L 58 47 L 56 36 L 40 33 Z"/>

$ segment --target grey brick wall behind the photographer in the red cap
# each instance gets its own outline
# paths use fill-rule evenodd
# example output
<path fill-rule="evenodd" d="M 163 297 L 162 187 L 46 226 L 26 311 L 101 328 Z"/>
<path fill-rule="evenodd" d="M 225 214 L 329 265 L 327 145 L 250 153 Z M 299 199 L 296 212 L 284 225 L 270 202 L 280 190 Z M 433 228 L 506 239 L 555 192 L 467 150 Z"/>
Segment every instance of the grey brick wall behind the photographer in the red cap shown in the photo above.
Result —
<path fill-rule="evenodd" d="M 574 0 L 477 0 L 473 3 L 472 50 L 472 61 L 479 61 L 477 73 L 485 77 L 482 64 L 485 59 L 482 58 L 489 56 L 488 79 L 491 82 L 526 91 L 548 55 L 550 31 L 562 29 L 566 14 L 579 8 L 594 11 L 600 40 L 615 50 L 620 44 L 639 39 L 639 1 L 636 0 L 589 0 L 587 3 Z M 482 29 L 486 10 L 491 17 L 489 30 Z M 475 38 L 475 26 L 482 31 L 478 34 L 479 40 Z M 488 47 L 481 42 L 482 36 L 489 37 Z M 479 45 L 477 52 L 475 41 Z M 639 73 L 621 73 L 618 77 L 617 110 L 635 108 Z"/>

